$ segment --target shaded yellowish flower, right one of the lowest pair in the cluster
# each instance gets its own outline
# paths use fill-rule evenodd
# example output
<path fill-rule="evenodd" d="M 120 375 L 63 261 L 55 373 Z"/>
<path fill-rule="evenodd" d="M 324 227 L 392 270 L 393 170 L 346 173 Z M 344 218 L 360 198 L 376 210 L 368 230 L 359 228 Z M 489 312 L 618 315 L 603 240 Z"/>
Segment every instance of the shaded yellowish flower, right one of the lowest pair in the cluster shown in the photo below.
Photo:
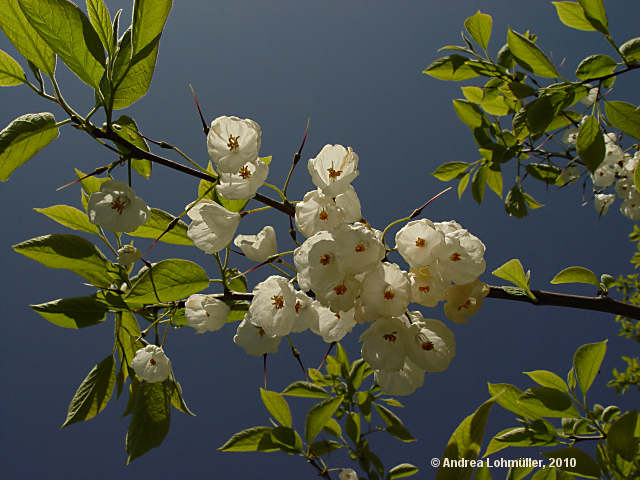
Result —
<path fill-rule="evenodd" d="M 407 356 L 426 372 L 446 370 L 456 354 L 453 332 L 440 320 L 422 318 L 418 311 L 409 316 Z"/>

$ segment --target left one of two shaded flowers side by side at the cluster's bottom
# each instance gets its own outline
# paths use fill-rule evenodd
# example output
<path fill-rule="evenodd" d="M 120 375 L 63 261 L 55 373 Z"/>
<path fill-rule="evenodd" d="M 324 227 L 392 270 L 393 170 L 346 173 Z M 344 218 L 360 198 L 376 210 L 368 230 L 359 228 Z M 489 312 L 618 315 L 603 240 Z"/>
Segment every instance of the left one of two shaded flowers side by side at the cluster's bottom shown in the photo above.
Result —
<path fill-rule="evenodd" d="M 362 358 L 376 370 L 400 370 L 407 356 L 408 333 L 400 317 L 378 318 L 360 335 Z"/>

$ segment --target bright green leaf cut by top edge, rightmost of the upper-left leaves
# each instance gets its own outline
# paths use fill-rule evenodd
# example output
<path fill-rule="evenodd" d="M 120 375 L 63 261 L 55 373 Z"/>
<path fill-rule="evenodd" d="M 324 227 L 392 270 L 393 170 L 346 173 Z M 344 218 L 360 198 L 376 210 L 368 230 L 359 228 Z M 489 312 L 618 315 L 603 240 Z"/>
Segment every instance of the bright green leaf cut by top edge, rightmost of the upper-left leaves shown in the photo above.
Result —
<path fill-rule="evenodd" d="M 162 34 L 173 0 L 134 0 L 131 23 L 131 57 L 135 57 Z"/>

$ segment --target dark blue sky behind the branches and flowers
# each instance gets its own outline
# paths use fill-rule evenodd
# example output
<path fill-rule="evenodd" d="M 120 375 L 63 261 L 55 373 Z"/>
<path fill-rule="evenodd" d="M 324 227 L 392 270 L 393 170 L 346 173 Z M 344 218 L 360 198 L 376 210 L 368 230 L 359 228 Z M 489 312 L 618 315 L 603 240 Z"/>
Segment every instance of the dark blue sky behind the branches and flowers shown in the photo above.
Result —
<path fill-rule="evenodd" d="M 263 131 L 262 155 L 272 155 L 269 180 L 282 184 L 307 117 L 311 133 L 290 193 L 301 198 L 312 188 L 306 159 L 326 143 L 350 145 L 360 157 L 354 182 L 363 214 L 383 228 L 410 213 L 446 185 L 429 175 L 445 161 L 474 161 L 476 146 L 458 120 L 451 99 L 458 86 L 421 74 L 446 44 L 460 43 L 466 17 L 477 9 L 494 18 L 490 51 L 505 42 L 507 26 L 531 29 L 554 63 L 566 57 L 561 73 L 573 78 L 580 60 L 591 53 L 613 55 L 597 33 L 570 30 L 560 24 L 550 2 L 453 0 L 449 2 L 175 2 L 162 37 L 158 65 L 148 95 L 126 112 L 143 133 L 179 145 L 203 165 L 207 153 L 188 84 L 196 89 L 207 118 L 237 115 L 256 120 Z M 606 2 L 609 23 L 619 43 L 638 35 L 637 0 Z M 112 14 L 128 2 L 107 1 Z M 4 36 L 0 48 L 15 55 Z M 16 56 L 17 58 L 17 56 Z M 21 62 L 26 67 L 25 62 Z M 91 107 L 92 93 L 59 68 L 67 99 L 79 111 Z M 639 103 L 636 78 L 621 78 L 610 98 Z M 52 111 L 55 105 L 37 99 L 26 87 L 0 90 L 0 123 L 31 112 Z M 166 152 L 162 152 L 163 154 Z M 111 351 L 112 322 L 65 330 L 47 323 L 29 304 L 89 294 L 78 278 L 53 271 L 15 254 L 10 246 L 63 227 L 32 210 L 67 203 L 78 206 L 79 189 L 55 188 L 73 179 L 73 167 L 89 171 L 112 160 L 109 152 L 72 128 L 0 188 L 5 206 L 0 256 L 3 295 L 3 335 L 0 348 L 0 471 L 5 478 L 191 478 L 196 474 L 230 478 L 307 478 L 313 470 L 302 459 L 285 454 L 218 453 L 233 433 L 268 424 L 259 400 L 261 359 L 247 357 L 233 345 L 234 325 L 199 335 L 190 329 L 171 332 L 167 353 L 181 381 L 185 398 L 198 415 L 174 411 L 164 445 L 124 467 L 124 435 L 128 419 L 120 418 L 125 402 L 112 400 L 97 418 L 59 431 L 69 400 L 92 365 Z M 124 179 L 124 172 L 116 172 Z M 505 191 L 512 167 L 506 168 Z M 151 206 L 174 213 L 196 197 L 197 180 L 154 167 L 150 181 L 137 179 L 136 191 Z M 269 190 L 264 191 L 270 194 Z M 632 223 L 617 213 L 603 218 L 582 203 L 580 186 L 562 191 L 533 189 L 547 206 L 525 220 L 504 214 L 501 200 L 487 191 L 478 206 L 469 192 L 462 200 L 450 193 L 424 215 L 434 221 L 456 219 L 487 246 L 488 283 L 499 283 L 490 271 L 510 258 L 532 269 L 535 288 L 591 295 L 589 288 L 553 288 L 548 281 L 569 265 L 584 265 L 596 273 L 629 272 L 633 250 L 626 239 Z M 240 233 L 255 233 L 267 222 L 277 231 L 288 228 L 275 214 L 256 214 L 240 225 Z M 66 233 L 66 232 L 64 232 Z M 286 248 L 286 234 L 279 234 Z M 147 241 L 136 242 L 146 246 Z M 213 275 L 215 265 L 193 248 L 155 247 L 149 260 L 168 256 L 200 261 Z M 397 260 L 397 259 L 396 259 Z M 250 277 L 255 284 L 261 275 Z M 426 317 L 444 319 L 442 308 L 423 309 Z M 526 388 L 520 372 L 548 369 L 564 375 L 575 349 L 609 338 L 609 354 L 593 388 L 594 401 L 638 404 L 637 392 L 620 399 L 604 385 L 611 368 L 623 368 L 621 354 L 637 354 L 637 345 L 616 336 L 611 315 L 557 308 L 534 308 L 487 300 L 466 325 L 452 325 L 457 356 L 450 368 L 428 375 L 424 387 L 401 399 L 398 413 L 419 439 L 402 444 L 380 435 L 373 450 L 387 465 L 409 461 L 431 478 L 431 457 L 440 457 L 455 426 L 488 397 L 486 382 L 509 382 Z M 344 343 L 350 357 L 359 356 L 357 338 Z M 319 339 L 294 337 L 307 366 L 316 365 L 326 349 Z M 283 343 L 270 357 L 270 388 L 281 390 L 299 378 L 299 370 Z M 290 402 L 296 426 L 304 428 L 306 402 Z M 496 409 L 497 410 L 497 409 Z M 493 414 L 487 434 L 514 423 L 510 415 Z M 337 457 L 332 466 L 341 466 Z M 506 474 L 506 472 L 504 472 Z M 502 474 L 501 474 L 502 475 Z"/>

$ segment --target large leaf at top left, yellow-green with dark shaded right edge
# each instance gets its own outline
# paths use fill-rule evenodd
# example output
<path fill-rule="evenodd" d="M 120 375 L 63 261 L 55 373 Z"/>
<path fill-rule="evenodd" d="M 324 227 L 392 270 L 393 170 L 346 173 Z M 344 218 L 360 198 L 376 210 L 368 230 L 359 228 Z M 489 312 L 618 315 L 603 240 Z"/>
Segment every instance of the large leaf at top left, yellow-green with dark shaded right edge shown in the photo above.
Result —
<path fill-rule="evenodd" d="M 105 57 L 87 16 L 69 0 L 19 0 L 27 21 L 83 82 L 97 89 Z"/>

